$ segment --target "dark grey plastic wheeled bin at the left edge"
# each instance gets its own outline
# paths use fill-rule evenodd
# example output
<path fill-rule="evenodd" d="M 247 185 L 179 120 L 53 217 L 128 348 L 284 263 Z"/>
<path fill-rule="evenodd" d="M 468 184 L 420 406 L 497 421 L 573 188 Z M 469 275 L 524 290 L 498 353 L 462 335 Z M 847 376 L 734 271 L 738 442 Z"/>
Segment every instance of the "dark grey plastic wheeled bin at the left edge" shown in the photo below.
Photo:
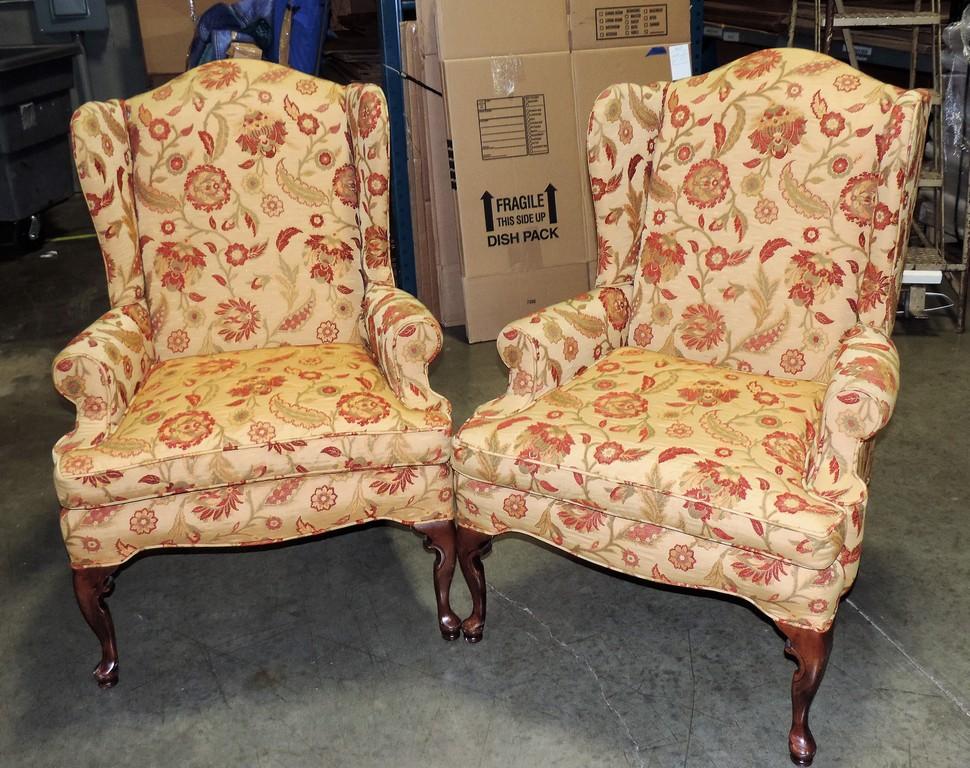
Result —
<path fill-rule="evenodd" d="M 74 191 L 69 127 L 76 45 L 0 46 L 0 221 Z"/>

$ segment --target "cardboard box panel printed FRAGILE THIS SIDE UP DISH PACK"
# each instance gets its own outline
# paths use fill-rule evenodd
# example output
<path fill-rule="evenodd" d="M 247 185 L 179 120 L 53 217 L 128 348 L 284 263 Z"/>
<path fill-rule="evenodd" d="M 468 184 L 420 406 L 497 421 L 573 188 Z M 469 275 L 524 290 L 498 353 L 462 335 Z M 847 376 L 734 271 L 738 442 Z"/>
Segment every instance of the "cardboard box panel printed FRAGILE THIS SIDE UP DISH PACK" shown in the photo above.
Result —
<path fill-rule="evenodd" d="M 586 262 L 569 54 L 446 61 L 444 75 L 462 274 Z"/>

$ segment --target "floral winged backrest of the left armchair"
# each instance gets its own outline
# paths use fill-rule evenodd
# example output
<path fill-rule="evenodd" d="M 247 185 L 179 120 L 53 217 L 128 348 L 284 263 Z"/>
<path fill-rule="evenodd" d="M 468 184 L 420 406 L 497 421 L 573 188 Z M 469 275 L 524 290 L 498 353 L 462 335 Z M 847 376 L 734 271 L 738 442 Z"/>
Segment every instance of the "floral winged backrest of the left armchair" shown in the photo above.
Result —
<path fill-rule="evenodd" d="M 393 283 L 387 107 L 262 61 L 215 61 L 72 120 L 113 306 L 159 357 L 360 339 Z"/>

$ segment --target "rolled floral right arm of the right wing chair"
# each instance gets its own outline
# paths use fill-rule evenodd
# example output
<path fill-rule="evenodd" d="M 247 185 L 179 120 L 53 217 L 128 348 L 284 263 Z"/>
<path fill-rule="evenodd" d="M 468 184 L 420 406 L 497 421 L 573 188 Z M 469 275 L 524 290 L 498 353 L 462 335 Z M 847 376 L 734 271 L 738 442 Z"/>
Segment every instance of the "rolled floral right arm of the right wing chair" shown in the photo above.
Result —
<path fill-rule="evenodd" d="M 809 488 L 846 507 L 865 502 L 861 451 L 888 423 L 898 392 L 895 345 L 876 328 L 854 326 L 842 337 L 825 390 L 821 429 L 809 456 Z"/>

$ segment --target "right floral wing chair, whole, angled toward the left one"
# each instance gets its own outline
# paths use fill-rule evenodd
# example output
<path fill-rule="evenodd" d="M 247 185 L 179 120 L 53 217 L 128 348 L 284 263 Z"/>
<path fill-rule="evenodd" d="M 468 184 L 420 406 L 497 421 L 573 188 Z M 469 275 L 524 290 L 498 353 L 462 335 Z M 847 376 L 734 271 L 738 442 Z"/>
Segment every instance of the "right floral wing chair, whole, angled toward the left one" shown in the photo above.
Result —
<path fill-rule="evenodd" d="M 798 663 L 792 758 L 859 567 L 871 438 L 924 95 L 766 50 L 616 85 L 589 123 L 596 287 L 514 322 L 508 392 L 455 437 L 458 556 L 518 531 L 651 581 L 736 595 Z"/>

